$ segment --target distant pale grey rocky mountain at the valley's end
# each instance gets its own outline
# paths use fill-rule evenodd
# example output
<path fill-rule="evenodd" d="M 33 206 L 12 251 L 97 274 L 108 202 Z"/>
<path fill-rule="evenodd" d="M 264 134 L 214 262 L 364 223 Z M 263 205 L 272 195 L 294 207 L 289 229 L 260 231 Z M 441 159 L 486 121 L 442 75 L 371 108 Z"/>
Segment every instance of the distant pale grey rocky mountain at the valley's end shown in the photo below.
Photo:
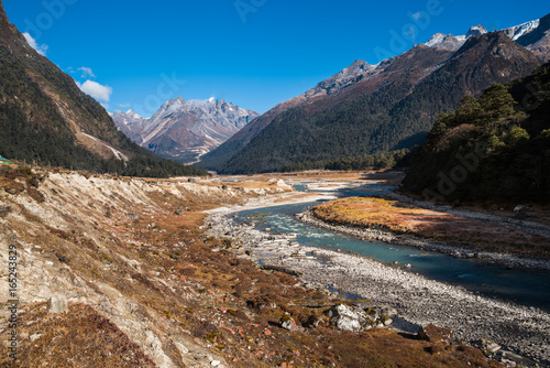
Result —
<path fill-rule="evenodd" d="M 197 162 L 256 118 L 258 113 L 213 98 L 166 101 L 150 119 L 129 110 L 112 115 L 117 128 L 155 154 Z"/>

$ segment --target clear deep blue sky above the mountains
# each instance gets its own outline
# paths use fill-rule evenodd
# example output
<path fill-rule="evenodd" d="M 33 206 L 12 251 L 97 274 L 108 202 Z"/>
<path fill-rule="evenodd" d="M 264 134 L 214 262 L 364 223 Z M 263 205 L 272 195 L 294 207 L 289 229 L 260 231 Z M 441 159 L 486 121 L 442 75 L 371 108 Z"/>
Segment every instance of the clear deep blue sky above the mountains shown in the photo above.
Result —
<path fill-rule="evenodd" d="M 376 64 L 436 32 L 503 29 L 550 12 L 547 0 L 3 3 L 11 22 L 109 111 L 145 117 L 175 97 L 264 112 L 355 59 Z"/>

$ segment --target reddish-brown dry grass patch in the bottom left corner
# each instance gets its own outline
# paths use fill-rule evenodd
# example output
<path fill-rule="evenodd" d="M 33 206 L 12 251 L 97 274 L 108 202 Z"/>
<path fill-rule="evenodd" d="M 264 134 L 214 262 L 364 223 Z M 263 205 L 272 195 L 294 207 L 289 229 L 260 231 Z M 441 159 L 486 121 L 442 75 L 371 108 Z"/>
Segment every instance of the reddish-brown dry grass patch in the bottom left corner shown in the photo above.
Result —
<path fill-rule="evenodd" d="M 10 329 L 0 334 L 8 339 Z M 19 321 L 15 365 L 0 345 L 2 367 L 155 367 L 114 324 L 85 304 L 48 314 L 45 303 L 28 305 Z"/>

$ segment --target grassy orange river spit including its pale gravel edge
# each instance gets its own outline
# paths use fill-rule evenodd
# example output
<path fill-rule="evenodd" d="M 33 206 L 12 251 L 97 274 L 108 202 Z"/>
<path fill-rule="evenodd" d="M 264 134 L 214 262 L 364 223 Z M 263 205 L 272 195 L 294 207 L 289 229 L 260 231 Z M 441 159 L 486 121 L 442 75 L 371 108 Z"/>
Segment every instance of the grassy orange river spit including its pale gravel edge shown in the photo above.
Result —
<path fill-rule="evenodd" d="M 550 270 L 550 237 L 496 216 L 420 208 L 404 201 L 350 197 L 323 203 L 298 217 L 362 239 L 480 258 L 509 268 Z"/>

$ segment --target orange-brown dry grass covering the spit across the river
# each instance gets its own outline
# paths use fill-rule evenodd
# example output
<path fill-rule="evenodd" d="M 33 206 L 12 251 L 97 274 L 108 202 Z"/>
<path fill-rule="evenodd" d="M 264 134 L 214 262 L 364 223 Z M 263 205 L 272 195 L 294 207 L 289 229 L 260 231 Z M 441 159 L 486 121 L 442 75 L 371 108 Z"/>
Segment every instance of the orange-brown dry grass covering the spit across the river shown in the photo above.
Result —
<path fill-rule="evenodd" d="M 333 224 L 382 228 L 463 247 L 550 259 L 549 238 L 394 201 L 351 197 L 318 205 L 312 212 L 316 217 Z"/>

